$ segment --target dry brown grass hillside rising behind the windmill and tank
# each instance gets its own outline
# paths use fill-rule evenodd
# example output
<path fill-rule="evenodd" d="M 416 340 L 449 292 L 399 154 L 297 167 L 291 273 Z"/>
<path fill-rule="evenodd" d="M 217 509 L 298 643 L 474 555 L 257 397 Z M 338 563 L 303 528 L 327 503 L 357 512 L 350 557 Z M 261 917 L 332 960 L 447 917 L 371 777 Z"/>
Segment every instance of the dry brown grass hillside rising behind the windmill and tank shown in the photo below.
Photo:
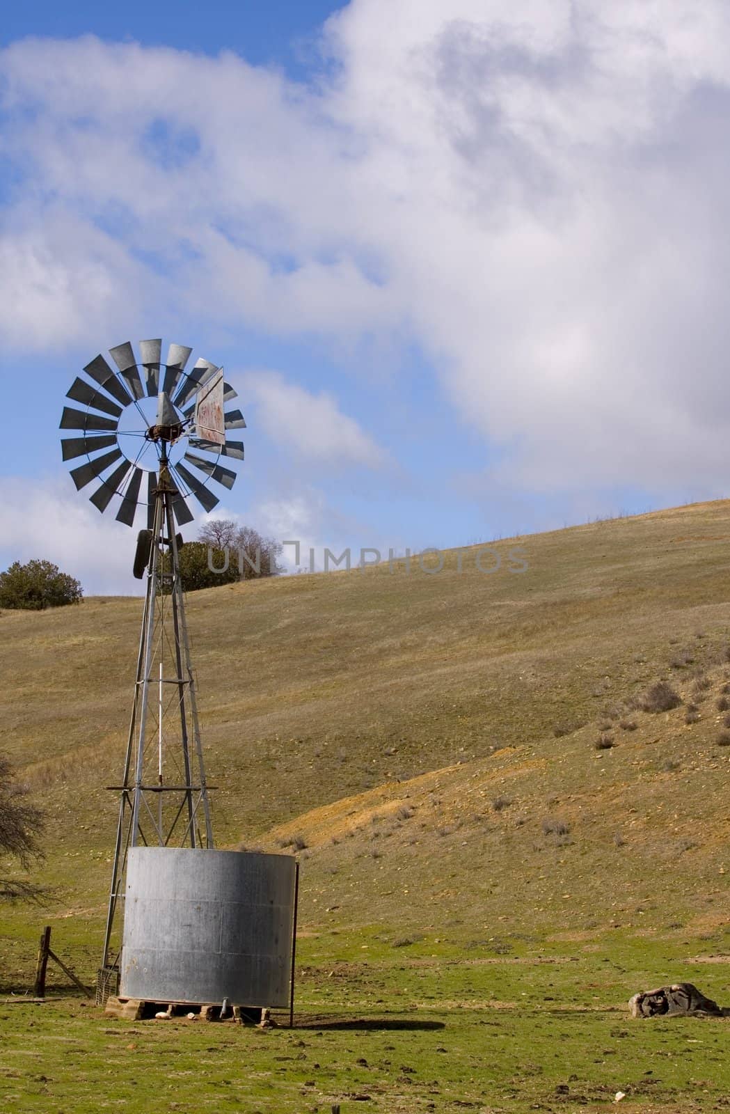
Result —
<path fill-rule="evenodd" d="M 461 571 L 451 553 L 438 574 L 189 597 L 219 844 L 298 848 L 312 930 L 711 931 L 730 873 L 730 504 L 496 548 L 493 574 L 465 550 Z M 0 750 L 48 813 L 55 918 L 102 917 L 140 613 L 0 616 Z M 682 703 L 642 711 L 662 677 Z"/>

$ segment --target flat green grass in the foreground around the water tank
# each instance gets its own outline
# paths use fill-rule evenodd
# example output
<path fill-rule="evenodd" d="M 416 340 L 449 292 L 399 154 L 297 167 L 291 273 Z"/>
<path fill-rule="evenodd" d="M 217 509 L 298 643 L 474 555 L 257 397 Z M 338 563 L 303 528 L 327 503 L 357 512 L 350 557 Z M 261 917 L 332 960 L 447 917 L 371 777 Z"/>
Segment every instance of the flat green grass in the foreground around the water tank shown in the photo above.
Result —
<path fill-rule="evenodd" d="M 600 1111 L 619 1091 L 628 1111 L 727 1108 L 727 1022 L 639 1022 L 625 1006 L 659 971 L 722 999 L 727 967 L 668 940 L 492 944 L 514 954 L 428 938 L 394 951 L 375 931 L 303 941 L 294 1030 L 0 1004 L 2 1108 Z"/>

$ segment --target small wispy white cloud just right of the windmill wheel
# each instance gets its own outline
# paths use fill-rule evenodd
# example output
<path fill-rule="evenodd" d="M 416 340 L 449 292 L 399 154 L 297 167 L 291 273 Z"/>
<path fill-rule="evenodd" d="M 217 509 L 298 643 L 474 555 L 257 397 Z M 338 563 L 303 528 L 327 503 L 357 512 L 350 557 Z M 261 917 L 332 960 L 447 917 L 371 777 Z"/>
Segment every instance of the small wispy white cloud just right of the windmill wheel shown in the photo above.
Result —
<path fill-rule="evenodd" d="M 274 371 L 248 372 L 239 384 L 239 392 L 257 404 L 257 424 L 290 455 L 341 467 L 385 462 L 384 451 L 326 391 L 310 394 Z"/>

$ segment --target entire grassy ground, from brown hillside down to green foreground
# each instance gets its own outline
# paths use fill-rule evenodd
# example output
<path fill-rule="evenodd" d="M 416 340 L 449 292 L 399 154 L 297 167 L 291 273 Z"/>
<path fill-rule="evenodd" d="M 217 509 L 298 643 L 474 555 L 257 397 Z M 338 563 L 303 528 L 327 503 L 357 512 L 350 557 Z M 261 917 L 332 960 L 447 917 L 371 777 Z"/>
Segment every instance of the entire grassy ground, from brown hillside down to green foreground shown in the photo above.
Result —
<path fill-rule="evenodd" d="M 493 574 L 465 550 L 435 575 L 414 561 L 190 596 L 218 844 L 300 849 L 298 1026 L 112 1024 L 14 997 L 3 1105 L 729 1105 L 724 1022 L 625 1008 L 679 979 L 730 1006 L 728 543 L 714 502 L 501 541 Z M 121 772 L 140 613 L 0 615 L 0 749 L 47 812 L 52 888 L 2 910 L 9 996 L 32 983 L 43 924 L 93 979 L 102 786 Z M 662 677 L 681 703 L 642 710 Z"/>

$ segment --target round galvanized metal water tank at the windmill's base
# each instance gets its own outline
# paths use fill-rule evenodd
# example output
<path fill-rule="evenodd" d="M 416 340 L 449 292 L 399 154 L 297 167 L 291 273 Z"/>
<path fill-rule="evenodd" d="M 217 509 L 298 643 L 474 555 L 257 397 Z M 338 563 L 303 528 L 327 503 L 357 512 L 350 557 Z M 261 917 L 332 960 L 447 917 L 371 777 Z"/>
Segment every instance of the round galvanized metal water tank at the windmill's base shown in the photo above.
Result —
<path fill-rule="evenodd" d="M 292 856 L 130 848 L 120 995 L 288 1006 L 295 878 Z"/>

